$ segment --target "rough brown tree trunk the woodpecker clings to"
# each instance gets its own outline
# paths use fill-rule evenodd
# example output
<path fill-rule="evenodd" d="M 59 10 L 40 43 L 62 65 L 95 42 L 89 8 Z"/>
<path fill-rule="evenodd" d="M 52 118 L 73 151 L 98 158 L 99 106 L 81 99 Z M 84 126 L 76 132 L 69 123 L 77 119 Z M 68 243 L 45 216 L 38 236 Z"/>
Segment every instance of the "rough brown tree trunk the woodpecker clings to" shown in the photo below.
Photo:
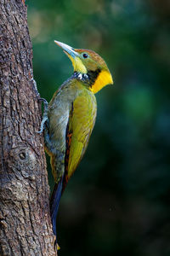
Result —
<path fill-rule="evenodd" d="M 0 0 L 0 255 L 57 255 L 27 9 Z"/>

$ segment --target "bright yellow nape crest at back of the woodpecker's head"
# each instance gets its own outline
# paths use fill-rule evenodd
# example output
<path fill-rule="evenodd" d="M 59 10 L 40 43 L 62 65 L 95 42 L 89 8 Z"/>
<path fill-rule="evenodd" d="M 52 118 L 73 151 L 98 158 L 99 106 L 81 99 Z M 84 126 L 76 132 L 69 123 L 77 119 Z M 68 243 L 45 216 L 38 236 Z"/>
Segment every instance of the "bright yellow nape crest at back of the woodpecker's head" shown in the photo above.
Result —
<path fill-rule="evenodd" d="M 95 80 L 94 84 L 92 84 L 92 87 L 90 88 L 90 90 L 96 93 L 99 90 L 101 90 L 103 87 L 105 87 L 105 85 L 107 84 L 113 84 L 111 73 L 107 70 L 102 70 L 99 73 L 99 76 Z"/>

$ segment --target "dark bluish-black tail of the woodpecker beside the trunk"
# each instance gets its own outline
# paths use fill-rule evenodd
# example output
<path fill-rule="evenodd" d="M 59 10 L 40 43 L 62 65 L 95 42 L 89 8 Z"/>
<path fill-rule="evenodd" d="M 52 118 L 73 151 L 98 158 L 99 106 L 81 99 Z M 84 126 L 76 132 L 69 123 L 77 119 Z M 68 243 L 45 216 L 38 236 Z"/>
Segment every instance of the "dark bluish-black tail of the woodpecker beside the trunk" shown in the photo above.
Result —
<path fill-rule="evenodd" d="M 50 199 L 51 221 L 53 224 L 54 236 L 56 236 L 55 244 L 57 244 L 56 219 L 57 219 L 57 213 L 59 210 L 59 201 L 60 201 L 61 192 L 62 192 L 62 184 L 63 184 L 63 178 L 60 179 L 59 183 L 55 183 L 54 190 Z"/>

